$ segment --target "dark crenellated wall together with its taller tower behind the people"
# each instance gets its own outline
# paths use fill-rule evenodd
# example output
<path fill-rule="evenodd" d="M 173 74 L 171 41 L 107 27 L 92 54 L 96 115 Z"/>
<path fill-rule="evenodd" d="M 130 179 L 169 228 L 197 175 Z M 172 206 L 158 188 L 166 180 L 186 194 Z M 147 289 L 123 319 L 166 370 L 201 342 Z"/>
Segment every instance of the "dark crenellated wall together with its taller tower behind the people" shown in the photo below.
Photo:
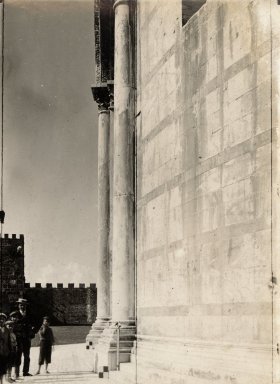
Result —
<path fill-rule="evenodd" d="M 50 316 L 54 325 L 92 324 L 96 318 L 97 289 L 96 284 L 77 287 L 69 283 L 67 287 L 58 283 L 53 286 L 41 283 L 30 286 L 25 283 L 24 275 L 24 236 L 13 234 L 0 238 L 0 255 L 2 254 L 1 310 L 10 313 L 17 308 L 16 301 L 24 297 L 29 301 L 29 310 L 33 320 L 39 326 L 43 316 Z M 1 274 L 0 274 L 1 283 Z"/>

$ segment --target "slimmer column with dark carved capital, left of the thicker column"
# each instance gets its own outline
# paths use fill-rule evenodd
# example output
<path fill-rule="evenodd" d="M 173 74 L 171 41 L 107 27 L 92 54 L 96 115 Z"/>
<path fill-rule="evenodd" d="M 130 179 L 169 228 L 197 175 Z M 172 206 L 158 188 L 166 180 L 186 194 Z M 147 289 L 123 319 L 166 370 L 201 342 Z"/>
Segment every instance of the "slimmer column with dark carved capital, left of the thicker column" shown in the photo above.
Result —
<path fill-rule="evenodd" d="M 107 85 L 92 88 L 98 103 L 98 260 L 97 317 L 86 342 L 94 348 L 109 325 L 110 309 L 110 111 Z"/>

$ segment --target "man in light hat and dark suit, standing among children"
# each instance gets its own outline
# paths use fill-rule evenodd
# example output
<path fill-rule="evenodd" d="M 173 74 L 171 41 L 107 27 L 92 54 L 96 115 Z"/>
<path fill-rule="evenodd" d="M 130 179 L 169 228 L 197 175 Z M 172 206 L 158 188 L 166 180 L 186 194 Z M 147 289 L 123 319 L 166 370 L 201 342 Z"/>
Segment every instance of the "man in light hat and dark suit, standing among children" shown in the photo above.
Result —
<path fill-rule="evenodd" d="M 16 318 L 15 335 L 17 338 L 18 350 L 16 356 L 16 377 L 19 377 L 19 367 L 23 354 L 23 376 L 32 376 L 29 373 L 31 339 L 35 337 L 34 327 L 27 312 L 27 300 L 19 298 L 17 301 L 18 311 L 10 314 L 10 318 Z"/>

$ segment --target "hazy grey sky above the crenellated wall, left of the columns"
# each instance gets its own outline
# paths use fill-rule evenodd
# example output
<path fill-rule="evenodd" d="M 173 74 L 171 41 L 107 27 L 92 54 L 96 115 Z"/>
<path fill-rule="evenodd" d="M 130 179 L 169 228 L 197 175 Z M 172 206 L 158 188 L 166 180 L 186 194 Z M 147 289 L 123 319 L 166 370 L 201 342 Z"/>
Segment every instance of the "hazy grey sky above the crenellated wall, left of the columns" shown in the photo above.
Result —
<path fill-rule="evenodd" d="M 96 282 L 93 0 L 5 0 L 4 233 L 34 284 Z"/>

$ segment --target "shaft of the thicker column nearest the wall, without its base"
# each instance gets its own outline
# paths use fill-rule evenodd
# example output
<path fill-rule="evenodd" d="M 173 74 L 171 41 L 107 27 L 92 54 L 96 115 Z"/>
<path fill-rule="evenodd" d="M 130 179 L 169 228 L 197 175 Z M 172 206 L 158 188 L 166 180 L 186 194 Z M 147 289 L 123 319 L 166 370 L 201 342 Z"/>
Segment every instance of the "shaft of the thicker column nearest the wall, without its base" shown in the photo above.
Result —
<path fill-rule="evenodd" d="M 129 2 L 115 4 L 112 320 L 134 318 L 134 90 Z"/>

